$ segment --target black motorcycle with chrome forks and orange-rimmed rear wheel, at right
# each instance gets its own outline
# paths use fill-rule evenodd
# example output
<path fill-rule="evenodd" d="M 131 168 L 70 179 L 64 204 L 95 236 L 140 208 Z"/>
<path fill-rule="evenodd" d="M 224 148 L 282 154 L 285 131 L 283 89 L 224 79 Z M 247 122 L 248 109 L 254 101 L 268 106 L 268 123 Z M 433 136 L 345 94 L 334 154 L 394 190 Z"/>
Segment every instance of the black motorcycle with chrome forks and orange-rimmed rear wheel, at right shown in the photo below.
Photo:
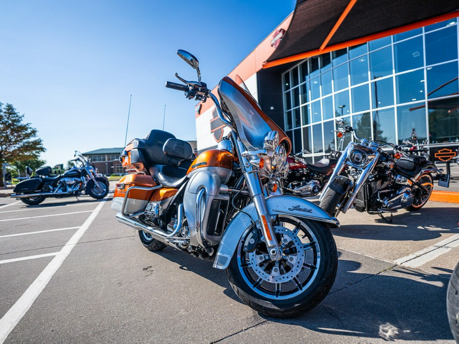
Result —
<path fill-rule="evenodd" d="M 392 220 L 398 209 L 418 210 L 427 202 L 433 190 L 432 175 L 443 170 L 423 156 L 406 154 L 400 146 L 361 139 L 342 119 L 336 122 L 341 126 L 336 130 L 339 137 L 353 133 L 358 142 L 350 142 L 339 158 L 320 196 L 322 209 L 337 216 L 354 206 L 383 219 L 383 213 L 390 213 Z M 447 179 L 442 186 L 449 186 Z"/>

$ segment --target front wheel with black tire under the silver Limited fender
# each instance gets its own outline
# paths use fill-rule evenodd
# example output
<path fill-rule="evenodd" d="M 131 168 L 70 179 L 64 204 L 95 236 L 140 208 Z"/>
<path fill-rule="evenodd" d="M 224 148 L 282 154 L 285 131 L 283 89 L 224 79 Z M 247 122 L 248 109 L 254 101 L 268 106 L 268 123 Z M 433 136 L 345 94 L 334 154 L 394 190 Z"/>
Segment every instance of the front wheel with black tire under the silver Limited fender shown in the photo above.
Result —
<path fill-rule="evenodd" d="M 228 279 L 254 310 L 269 316 L 296 316 L 328 294 L 338 268 L 336 244 L 320 222 L 283 215 L 276 218 L 273 229 L 282 258 L 271 261 L 263 241 L 251 246 L 258 235 L 256 228 L 249 227 L 226 270 Z"/>

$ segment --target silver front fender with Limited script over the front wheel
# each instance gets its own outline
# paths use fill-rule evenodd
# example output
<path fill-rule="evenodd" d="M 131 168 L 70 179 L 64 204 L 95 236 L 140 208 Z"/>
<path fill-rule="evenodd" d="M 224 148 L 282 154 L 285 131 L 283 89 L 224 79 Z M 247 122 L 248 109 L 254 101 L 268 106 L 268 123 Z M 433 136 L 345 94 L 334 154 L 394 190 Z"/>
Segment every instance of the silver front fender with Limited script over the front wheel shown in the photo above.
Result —
<path fill-rule="evenodd" d="M 266 207 L 269 216 L 285 214 L 302 219 L 324 222 L 332 228 L 340 226 L 336 218 L 329 216 L 319 206 L 302 198 L 285 195 L 271 196 L 266 198 Z M 255 222 L 258 220 L 257 209 L 255 209 L 253 203 L 248 204 L 242 210 L 231 220 L 223 233 L 215 257 L 214 268 L 226 269 L 228 267 L 242 234 L 252 224 L 252 221 Z"/>

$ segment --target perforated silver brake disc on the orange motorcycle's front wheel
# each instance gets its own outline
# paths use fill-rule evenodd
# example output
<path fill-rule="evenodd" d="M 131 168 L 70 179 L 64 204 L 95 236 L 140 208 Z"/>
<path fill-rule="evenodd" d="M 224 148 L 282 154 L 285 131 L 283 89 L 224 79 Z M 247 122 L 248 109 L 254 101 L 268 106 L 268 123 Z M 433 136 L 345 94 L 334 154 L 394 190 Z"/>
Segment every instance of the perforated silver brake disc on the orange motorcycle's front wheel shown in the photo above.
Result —
<path fill-rule="evenodd" d="M 304 262 L 304 248 L 298 235 L 293 231 L 273 226 L 274 233 L 279 238 L 279 246 L 283 250 L 281 259 L 271 262 L 268 253 L 249 253 L 250 266 L 253 271 L 263 280 L 270 283 L 285 283 L 299 274 Z"/>

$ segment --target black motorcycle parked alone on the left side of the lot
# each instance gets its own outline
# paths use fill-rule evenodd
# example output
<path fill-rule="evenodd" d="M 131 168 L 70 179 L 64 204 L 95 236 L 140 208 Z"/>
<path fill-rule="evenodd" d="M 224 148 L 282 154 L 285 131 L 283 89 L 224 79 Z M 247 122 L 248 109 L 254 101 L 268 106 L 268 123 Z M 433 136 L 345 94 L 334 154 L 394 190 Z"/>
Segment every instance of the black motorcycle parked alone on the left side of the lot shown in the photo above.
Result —
<path fill-rule="evenodd" d="M 30 179 L 19 182 L 11 197 L 19 198 L 29 205 L 40 204 L 46 197 L 77 197 L 82 193 L 95 199 L 107 196 L 109 181 L 98 174 L 94 165 L 79 151 L 75 151 L 75 159 L 79 167 L 72 167 L 63 174 L 52 175 L 50 167 L 39 168 Z M 27 167 L 26 174 L 31 176 L 32 170 Z"/>

